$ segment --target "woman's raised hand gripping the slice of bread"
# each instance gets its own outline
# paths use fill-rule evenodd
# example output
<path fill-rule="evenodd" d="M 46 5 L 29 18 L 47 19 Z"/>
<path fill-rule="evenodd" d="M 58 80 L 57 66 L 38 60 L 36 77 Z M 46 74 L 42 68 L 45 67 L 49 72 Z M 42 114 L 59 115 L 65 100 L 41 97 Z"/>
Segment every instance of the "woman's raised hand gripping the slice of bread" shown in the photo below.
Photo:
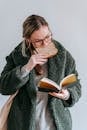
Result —
<path fill-rule="evenodd" d="M 24 66 L 27 70 L 31 71 L 37 64 L 43 65 L 47 62 L 47 58 L 43 54 L 34 54 L 29 59 L 28 63 Z"/>

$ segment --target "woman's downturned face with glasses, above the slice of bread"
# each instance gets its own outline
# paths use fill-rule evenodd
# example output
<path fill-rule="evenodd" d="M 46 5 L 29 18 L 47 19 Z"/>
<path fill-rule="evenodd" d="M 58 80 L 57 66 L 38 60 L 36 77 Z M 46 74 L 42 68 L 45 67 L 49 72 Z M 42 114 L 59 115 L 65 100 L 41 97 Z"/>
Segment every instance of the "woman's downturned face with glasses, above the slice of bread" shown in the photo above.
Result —
<path fill-rule="evenodd" d="M 41 28 L 34 31 L 27 40 L 29 43 L 32 43 L 35 48 L 45 47 L 51 43 L 52 33 L 48 26 L 41 26 Z"/>

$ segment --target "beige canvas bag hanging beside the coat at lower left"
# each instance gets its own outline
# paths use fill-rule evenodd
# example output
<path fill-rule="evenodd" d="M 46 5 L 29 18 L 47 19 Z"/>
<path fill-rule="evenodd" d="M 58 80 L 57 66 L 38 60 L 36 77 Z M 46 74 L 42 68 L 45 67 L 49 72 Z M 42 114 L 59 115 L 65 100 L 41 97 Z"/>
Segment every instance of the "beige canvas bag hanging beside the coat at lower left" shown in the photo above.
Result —
<path fill-rule="evenodd" d="M 0 110 L 0 130 L 7 130 L 7 119 L 14 97 L 18 91 L 11 95 Z"/>

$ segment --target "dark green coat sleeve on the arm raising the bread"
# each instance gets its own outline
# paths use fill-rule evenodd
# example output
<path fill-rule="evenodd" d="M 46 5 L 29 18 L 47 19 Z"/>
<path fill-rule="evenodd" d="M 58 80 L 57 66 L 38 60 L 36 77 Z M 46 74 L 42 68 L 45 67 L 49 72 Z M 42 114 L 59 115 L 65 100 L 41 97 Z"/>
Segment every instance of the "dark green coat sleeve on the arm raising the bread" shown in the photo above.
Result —
<path fill-rule="evenodd" d="M 21 77 L 21 65 L 15 66 L 12 53 L 6 57 L 6 65 L 0 76 L 0 93 L 10 95 L 23 87 L 29 80 L 29 74 Z"/>

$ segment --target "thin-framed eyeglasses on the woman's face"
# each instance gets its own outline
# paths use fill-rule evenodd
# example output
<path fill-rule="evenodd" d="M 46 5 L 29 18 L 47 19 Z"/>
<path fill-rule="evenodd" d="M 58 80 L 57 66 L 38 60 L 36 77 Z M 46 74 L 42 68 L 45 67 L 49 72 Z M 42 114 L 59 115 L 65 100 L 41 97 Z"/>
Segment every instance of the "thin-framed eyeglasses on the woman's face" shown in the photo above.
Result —
<path fill-rule="evenodd" d="M 36 40 L 36 41 L 31 41 L 31 43 L 35 46 L 35 47 L 41 47 L 44 45 L 44 42 L 46 43 L 50 43 L 52 41 L 52 34 L 48 34 L 44 39 L 40 39 L 40 40 Z"/>

